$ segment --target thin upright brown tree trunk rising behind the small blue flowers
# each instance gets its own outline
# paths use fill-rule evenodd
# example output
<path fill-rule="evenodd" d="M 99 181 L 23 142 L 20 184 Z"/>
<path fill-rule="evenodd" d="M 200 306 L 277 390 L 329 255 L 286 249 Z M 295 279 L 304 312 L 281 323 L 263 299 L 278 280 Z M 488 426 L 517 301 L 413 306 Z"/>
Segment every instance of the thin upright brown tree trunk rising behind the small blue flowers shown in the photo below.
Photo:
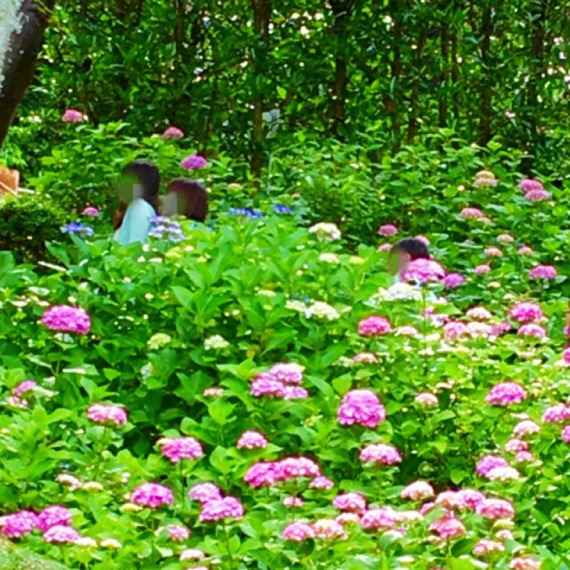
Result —
<path fill-rule="evenodd" d="M 263 81 L 257 81 L 264 75 L 266 67 L 266 53 L 269 48 L 269 21 L 271 19 L 271 1 L 270 0 L 252 0 L 252 9 L 254 11 L 254 31 L 256 36 L 256 47 L 254 53 L 254 113 L 253 113 L 253 152 L 252 152 L 252 173 L 256 180 L 259 190 L 261 169 L 263 167 L 263 93 L 261 86 Z"/>

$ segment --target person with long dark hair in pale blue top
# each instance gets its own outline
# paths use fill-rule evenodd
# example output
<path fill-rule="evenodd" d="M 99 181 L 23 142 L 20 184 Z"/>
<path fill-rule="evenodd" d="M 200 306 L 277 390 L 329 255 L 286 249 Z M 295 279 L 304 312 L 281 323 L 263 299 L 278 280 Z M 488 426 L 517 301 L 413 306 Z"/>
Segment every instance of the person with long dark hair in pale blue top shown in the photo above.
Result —
<path fill-rule="evenodd" d="M 158 213 L 160 174 L 146 160 L 129 162 L 121 172 L 119 208 L 113 227 L 115 239 L 123 245 L 147 241 L 150 219 Z"/>

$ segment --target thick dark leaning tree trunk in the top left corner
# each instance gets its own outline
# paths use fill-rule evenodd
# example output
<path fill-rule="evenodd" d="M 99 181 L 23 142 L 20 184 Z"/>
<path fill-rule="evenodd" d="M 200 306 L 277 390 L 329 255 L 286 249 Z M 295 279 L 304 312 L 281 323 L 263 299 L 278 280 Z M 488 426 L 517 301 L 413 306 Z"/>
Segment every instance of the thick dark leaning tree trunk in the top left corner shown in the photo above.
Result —
<path fill-rule="evenodd" d="M 0 146 L 33 81 L 53 4 L 55 0 L 44 0 L 41 4 L 32 0 L 22 2 L 22 28 L 11 38 L 4 64 L 4 83 L 0 86 Z"/>

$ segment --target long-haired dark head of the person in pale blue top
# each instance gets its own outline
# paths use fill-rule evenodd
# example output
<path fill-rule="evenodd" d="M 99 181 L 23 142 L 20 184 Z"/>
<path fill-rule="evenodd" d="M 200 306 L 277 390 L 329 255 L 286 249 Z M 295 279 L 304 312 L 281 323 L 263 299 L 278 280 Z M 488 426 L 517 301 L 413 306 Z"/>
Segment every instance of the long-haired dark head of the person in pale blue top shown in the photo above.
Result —
<path fill-rule="evenodd" d="M 158 212 L 160 174 L 152 162 L 135 160 L 125 165 L 121 171 L 118 190 L 119 207 L 113 220 L 115 229 L 123 223 L 128 204 L 135 199 L 144 199 Z"/>

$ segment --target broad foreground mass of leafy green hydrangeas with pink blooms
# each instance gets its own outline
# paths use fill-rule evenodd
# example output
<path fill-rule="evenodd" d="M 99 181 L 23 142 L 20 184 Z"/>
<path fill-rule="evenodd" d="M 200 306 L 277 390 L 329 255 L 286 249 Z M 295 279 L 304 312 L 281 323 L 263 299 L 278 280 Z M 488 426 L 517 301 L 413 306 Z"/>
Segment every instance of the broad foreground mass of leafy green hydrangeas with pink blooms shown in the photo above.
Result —
<path fill-rule="evenodd" d="M 74 569 L 567 568 L 566 229 L 474 196 L 396 285 L 274 212 L 4 254 L 4 537 Z"/>

